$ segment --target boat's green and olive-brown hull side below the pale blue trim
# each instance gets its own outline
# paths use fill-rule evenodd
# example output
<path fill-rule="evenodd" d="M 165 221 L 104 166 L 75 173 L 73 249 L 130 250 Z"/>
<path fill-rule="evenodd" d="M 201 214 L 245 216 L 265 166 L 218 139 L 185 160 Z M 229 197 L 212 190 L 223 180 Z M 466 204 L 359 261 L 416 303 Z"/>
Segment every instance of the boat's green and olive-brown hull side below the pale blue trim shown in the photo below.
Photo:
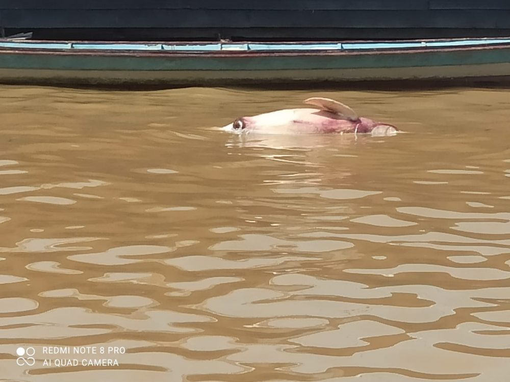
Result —
<path fill-rule="evenodd" d="M 507 82 L 510 44 L 336 51 L 0 49 L 4 84 L 221 86 L 451 79 Z"/>

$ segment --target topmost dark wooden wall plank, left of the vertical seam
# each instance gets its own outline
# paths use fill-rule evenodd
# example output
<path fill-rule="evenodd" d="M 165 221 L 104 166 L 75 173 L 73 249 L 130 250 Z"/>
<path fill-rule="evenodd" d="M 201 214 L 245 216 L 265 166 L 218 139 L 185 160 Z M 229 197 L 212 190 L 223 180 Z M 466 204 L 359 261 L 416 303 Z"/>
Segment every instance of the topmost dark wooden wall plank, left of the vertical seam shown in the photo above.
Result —
<path fill-rule="evenodd" d="M 2 0 L 1 9 L 426 10 L 428 0 Z"/>

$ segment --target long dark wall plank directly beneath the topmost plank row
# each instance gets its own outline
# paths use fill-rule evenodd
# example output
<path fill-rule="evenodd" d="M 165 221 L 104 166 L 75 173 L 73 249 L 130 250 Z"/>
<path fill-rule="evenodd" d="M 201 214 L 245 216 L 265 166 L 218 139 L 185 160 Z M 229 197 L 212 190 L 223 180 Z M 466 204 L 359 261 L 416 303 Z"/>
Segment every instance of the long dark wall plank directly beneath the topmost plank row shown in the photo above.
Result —
<path fill-rule="evenodd" d="M 2 10 L 4 28 L 485 28 L 508 29 L 507 12 Z"/>

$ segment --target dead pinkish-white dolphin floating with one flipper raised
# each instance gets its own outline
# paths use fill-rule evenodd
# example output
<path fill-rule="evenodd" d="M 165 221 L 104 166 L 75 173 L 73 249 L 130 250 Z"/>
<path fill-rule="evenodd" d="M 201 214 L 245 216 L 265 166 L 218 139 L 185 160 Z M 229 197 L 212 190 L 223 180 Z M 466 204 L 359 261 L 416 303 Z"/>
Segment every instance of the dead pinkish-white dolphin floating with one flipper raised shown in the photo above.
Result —
<path fill-rule="evenodd" d="M 398 129 L 386 123 L 359 117 L 349 106 L 329 98 L 313 97 L 304 103 L 315 108 L 277 110 L 253 117 L 241 117 L 222 130 L 263 134 L 372 133 L 393 135 Z"/>

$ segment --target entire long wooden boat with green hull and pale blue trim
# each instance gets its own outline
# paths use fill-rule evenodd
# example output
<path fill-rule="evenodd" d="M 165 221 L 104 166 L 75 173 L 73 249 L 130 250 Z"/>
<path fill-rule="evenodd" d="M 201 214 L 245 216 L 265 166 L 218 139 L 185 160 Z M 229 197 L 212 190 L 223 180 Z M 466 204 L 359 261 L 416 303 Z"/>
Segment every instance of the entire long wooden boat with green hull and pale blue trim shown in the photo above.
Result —
<path fill-rule="evenodd" d="M 0 83 L 201 86 L 510 79 L 510 37 L 345 42 L 0 39 Z"/>

